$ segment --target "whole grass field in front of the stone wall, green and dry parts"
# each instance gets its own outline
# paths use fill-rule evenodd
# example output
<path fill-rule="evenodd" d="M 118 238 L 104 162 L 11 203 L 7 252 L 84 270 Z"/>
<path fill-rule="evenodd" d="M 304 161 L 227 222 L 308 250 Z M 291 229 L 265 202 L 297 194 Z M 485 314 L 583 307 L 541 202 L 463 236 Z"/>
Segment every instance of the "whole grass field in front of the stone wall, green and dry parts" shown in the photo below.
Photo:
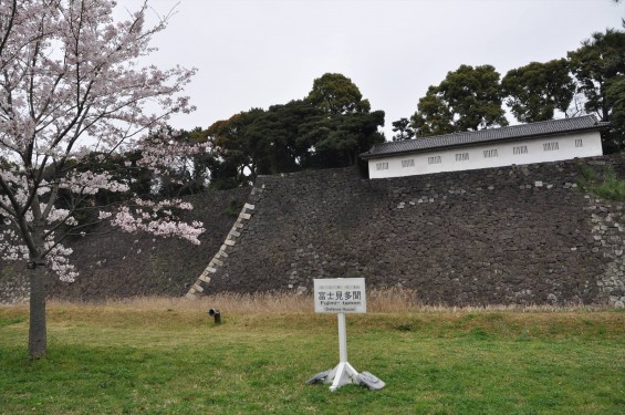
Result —
<path fill-rule="evenodd" d="M 0 413 L 625 413 L 624 311 L 368 305 L 347 315 L 348 360 L 379 392 L 304 384 L 338 362 L 310 298 L 52 302 L 40 361 L 28 308 L 1 307 Z"/>

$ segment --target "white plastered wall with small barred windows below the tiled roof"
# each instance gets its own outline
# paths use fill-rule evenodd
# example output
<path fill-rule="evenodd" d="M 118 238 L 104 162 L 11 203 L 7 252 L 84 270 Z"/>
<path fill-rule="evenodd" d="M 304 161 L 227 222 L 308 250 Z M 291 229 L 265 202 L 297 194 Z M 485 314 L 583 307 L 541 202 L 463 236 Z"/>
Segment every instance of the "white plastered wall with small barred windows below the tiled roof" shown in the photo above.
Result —
<path fill-rule="evenodd" d="M 558 144 L 554 145 L 554 143 Z M 514 154 L 514 147 L 523 146 L 527 147 L 527 153 L 520 153 L 517 149 L 519 154 Z M 494 152 L 492 151 L 497 151 L 497 156 L 493 156 Z M 491 157 L 486 157 L 485 152 L 490 152 Z M 457 160 L 457 155 L 465 153 L 468 153 L 468 159 Z M 372 158 L 368 160 L 368 169 L 369 178 L 385 178 L 511 166 L 513 164 L 558 162 L 601 155 L 603 155 L 601 136 L 597 131 L 594 131 Z M 434 159 L 430 159 L 430 157 L 434 157 Z M 410 159 L 414 159 L 414 165 L 408 162 Z M 433 163 L 438 160 L 440 163 Z M 403 166 L 402 162 L 405 162 L 406 166 Z M 387 168 L 378 169 L 379 163 L 383 164 L 381 167 L 387 166 Z"/>

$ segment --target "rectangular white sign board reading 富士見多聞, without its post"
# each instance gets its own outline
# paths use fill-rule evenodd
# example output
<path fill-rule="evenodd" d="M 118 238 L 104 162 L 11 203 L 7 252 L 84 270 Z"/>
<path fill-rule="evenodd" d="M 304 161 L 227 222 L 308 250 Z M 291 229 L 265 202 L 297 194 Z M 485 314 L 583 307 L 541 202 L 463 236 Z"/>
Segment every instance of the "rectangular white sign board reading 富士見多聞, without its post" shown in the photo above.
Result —
<path fill-rule="evenodd" d="M 315 279 L 314 311 L 316 313 L 366 313 L 365 279 Z"/>

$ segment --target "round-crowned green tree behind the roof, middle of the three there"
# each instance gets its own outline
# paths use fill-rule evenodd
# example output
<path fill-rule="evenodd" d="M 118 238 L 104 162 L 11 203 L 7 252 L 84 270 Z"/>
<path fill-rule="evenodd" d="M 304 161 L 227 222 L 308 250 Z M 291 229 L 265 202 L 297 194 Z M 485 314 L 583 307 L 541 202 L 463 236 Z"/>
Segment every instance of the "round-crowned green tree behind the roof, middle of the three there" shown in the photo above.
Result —
<path fill-rule="evenodd" d="M 553 120 L 555 110 L 566 113 L 575 82 L 565 59 L 545 63 L 531 62 L 510 70 L 501 80 L 506 104 L 522 123 Z"/>

